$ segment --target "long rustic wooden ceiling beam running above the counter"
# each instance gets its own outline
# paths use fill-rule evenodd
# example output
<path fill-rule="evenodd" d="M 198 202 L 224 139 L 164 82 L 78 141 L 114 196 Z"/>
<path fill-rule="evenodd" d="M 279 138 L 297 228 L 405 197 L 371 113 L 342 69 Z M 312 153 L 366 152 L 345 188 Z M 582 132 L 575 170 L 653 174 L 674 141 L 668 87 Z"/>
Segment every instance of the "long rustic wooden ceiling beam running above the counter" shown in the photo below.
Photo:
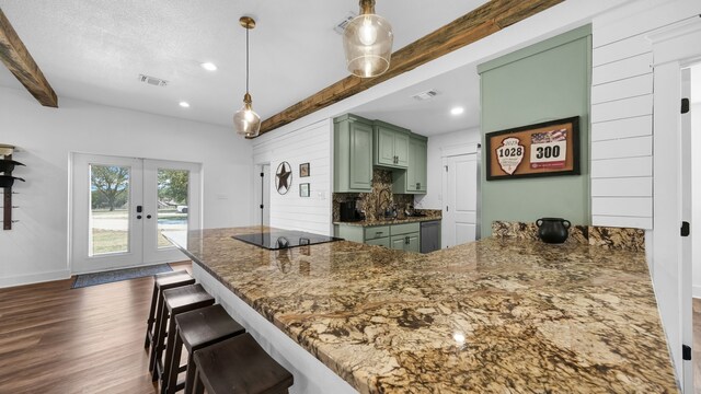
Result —
<path fill-rule="evenodd" d="M 349 76 L 263 120 L 261 135 L 411 71 L 563 0 L 492 0 L 392 54 L 390 68 L 376 78 Z"/>

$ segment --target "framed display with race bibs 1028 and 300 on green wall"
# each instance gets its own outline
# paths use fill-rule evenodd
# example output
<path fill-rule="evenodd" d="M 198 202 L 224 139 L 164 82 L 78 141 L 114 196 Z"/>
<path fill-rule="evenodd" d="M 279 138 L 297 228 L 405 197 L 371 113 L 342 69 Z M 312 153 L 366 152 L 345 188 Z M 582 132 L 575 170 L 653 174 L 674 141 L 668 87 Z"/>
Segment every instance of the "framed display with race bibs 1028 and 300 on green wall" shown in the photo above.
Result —
<path fill-rule="evenodd" d="M 579 175 L 579 117 L 485 136 L 486 179 Z"/>

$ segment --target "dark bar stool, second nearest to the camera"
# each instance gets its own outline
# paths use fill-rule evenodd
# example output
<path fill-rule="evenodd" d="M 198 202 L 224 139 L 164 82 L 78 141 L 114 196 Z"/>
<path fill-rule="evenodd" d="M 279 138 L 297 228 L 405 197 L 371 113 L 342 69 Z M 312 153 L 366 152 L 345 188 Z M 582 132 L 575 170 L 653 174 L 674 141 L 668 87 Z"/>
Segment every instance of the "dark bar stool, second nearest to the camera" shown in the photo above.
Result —
<path fill-rule="evenodd" d="M 181 313 L 175 316 L 175 326 L 177 328 L 173 341 L 172 362 L 165 374 L 165 383 L 161 386 L 161 392 L 168 394 L 182 389 L 185 389 L 185 393 L 192 393 L 196 369 L 193 355 L 199 349 L 245 333 L 245 328 L 231 318 L 221 305 Z M 187 349 L 187 364 L 181 367 L 183 345 Z M 185 370 L 185 382 L 177 382 L 177 374 Z"/>

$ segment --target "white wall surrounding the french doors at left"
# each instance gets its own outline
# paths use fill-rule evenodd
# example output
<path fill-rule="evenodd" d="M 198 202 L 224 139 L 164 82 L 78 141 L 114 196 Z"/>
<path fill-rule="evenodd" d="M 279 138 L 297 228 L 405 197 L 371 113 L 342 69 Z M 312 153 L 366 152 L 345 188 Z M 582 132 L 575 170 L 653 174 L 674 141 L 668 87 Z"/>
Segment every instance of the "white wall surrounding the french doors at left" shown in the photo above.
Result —
<path fill-rule="evenodd" d="M 253 220 L 251 142 L 226 127 L 59 97 L 41 106 L 26 91 L 0 88 L 0 143 L 16 146 L 11 231 L 0 232 L 0 287 L 65 279 L 69 262 L 70 152 L 203 164 L 203 225 Z"/>

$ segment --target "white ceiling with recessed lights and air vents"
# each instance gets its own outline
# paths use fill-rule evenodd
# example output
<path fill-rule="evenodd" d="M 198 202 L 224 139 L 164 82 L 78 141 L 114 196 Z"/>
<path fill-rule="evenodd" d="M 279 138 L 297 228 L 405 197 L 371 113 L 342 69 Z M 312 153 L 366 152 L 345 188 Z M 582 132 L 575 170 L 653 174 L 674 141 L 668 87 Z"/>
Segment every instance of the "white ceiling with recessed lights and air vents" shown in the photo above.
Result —
<path fill-rule="evenodd" d="M 486 2 L 378 0 L 376 10 L 394 31 L 394 49 L 430 33 Z M 175 116 L 225 126 L 245 91 L 245 31 L 241 15 L 252 15 L 251 94 L 263 119 L 345 78 L 341 36 L 333 31 L 357 0 L 0 0 L 15 31 L 59 96 Z M 208 72 L 199 63 L 219 68 Z M 21 88 L 0 67 L 0 85 Z M 140 73 L 170 81 L 166 88 L 138 82 Z M 414 103 L 407 90 L 359 108 L 382 118 L 436 134 L 476 126 L 476 76 L 444 76 L 426 84 L 441 95 Z M 187 101 L 189 108 L 177 103 Z M 464 102 L 466 114 L 435 123 Z M 420 105 L 423 104 L 423 105 Z M 470 112 L 474 113 L 470 114 Z M 376 115 L 377 114 L 377 115 Z M 414 126 L 416 125 L 416 126 Z"/>

